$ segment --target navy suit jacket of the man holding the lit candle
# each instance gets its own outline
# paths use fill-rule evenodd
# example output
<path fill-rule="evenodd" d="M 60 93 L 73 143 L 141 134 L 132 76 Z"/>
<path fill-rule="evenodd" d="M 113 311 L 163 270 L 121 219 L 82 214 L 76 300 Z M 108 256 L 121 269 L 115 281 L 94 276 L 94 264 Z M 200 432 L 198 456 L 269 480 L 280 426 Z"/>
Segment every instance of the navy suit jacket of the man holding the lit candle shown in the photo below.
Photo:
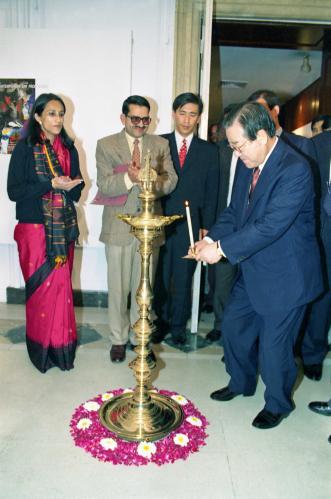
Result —
<path fill-rule="evenodd" d="M 208 236 L 239 263 L 259 314 L 309 303 L 322 291 L 309 164 L 283 141 L 268 158 L 248 204 L 252 169 L 237 165 L 230 206 Z"/>

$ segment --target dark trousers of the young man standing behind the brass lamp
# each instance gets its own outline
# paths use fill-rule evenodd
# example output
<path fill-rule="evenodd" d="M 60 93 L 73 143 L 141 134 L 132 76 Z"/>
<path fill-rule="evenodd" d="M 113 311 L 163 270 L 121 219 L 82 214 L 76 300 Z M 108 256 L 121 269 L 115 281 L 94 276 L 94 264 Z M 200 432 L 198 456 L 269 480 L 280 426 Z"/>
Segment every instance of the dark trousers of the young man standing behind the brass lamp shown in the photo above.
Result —
<path fill-rule="evenodd" d="M 154 310 L 169 323 L 173 336 L 185 332 L 191 315 L 192 278 L 195 260 L 183 259 L 188 252 L 186 239 L 178 234 L 169 235 L 160 249 L 155 276 Z"/>

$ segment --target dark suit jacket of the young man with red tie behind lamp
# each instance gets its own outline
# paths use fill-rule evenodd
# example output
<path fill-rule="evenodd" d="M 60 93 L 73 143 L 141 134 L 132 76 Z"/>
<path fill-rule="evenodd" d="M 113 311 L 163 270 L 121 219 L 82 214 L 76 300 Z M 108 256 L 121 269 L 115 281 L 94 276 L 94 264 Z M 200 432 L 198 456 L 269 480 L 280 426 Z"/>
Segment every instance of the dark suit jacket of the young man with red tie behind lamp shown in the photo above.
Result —
<path fill-rule="evenodd" d="M 219 183 L 219 163 L 217 147 L 194 136 L 190 144 L 183 168 L 180 167 L 175 134 L 163 135 L 169 141 L 170 153 L 178 183 L 175 190 L 162 198 L 165 215 L 184 215 L 186 200 L 190 203 L 194 240 L 198 240 L 199 229 L 209 229 L 216 219 L 217 194 Z M 186 221 L 168 226 L 167 232 L 180 230 L 189 246 Z"/>

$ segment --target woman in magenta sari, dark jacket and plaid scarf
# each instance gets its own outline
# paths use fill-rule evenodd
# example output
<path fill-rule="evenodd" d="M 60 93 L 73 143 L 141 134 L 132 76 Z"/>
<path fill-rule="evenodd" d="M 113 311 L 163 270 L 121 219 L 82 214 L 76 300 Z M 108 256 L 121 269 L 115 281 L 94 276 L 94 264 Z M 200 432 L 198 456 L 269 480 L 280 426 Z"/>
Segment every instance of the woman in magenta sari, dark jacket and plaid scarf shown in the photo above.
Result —
<path fill-rule="evenodd" d="M 71 285 L 79 235 L 74 201 L 84 183 L 77 150 L 63 127 L 65 110 L 55 94 L 37 98 L 8 172 L 26 288 L 27 349 L 42 373 L 54 366 L 72 369 L 77 345 Z"/>

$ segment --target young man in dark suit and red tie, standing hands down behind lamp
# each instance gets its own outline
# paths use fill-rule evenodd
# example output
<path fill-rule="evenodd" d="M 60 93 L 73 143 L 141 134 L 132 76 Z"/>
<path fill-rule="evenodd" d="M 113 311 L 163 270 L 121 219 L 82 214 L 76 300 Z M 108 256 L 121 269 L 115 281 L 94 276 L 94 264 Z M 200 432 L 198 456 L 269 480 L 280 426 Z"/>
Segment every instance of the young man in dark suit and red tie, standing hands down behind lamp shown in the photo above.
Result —
<path fill-rule="evenodd" d="M 178 183 L 162 198 L 165 215 L 184 215 L 189 201 L 194 240 L 207 233 L 216 219 L 219 182 L 218 151 L 214 144 L 194 135 L 203 110 L 198 95 L 180 94 L 173 102 L 175 131 L 164 135 Z M 175 344 L 186 341 L 186 322 L 191 313 L 192 277 L 196 262 L 183 259 L 190 246 L 185 219 L 166 227 L 166 243 L 161 248 L 155 277 L 154 310 L 158 316 L 152 341 L 158 343 L 171 333 Z"/>

